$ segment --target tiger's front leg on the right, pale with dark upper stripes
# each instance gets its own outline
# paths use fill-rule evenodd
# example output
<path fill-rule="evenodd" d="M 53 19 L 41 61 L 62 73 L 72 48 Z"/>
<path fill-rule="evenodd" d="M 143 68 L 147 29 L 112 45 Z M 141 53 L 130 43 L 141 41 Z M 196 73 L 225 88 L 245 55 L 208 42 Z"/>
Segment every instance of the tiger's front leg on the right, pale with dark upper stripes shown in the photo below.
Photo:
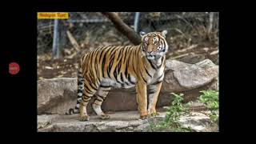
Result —
<path fill-rule="evenodd" d="M 158 102 L 158 96 L 162 87 L 162 82 L 155 82 L 149 86 L 149 106 L 148 114 L 150 116 L 158 115 L 158 112 L 155 110 L 155 106 Z"/>

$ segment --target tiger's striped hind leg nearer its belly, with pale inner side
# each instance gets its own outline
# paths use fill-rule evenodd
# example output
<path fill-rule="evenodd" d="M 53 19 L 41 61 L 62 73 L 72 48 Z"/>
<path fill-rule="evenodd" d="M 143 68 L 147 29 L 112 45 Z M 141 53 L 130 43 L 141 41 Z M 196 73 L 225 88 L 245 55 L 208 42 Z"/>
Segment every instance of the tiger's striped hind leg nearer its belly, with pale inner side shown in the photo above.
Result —
<path fill-rule="evenodd" d="M 102 102 L 105 100 L 106 95 L 109 93 L 110 89 L 111 89 L 110 87 L 100 86 L 97 93 L 95 94 L 96 98 L 95 98 L 92 106 L 93 106 L 95 113 L 98 116 L 100 116 L 101 119 L 109 119 L 110 118 L 110 116 L 108 114 L 105 114 L 102 111 Z"/>

